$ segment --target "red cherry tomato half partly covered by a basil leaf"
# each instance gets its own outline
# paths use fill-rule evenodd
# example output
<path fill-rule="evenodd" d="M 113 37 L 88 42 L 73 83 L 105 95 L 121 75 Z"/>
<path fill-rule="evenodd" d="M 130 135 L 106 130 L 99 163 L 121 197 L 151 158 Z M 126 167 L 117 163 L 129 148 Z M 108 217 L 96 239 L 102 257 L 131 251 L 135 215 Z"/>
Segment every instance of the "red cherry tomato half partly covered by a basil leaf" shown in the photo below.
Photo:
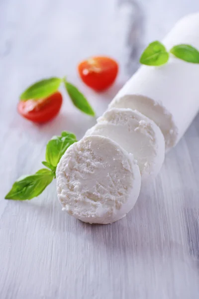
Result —
<path fill-rule="evenodd" d="M 34 122 L 45 123 L 53 119 L 62 106 L 62 95 L 59 91 L 39 100 L 20 101 L 17 110 L 21 116 Z"/>

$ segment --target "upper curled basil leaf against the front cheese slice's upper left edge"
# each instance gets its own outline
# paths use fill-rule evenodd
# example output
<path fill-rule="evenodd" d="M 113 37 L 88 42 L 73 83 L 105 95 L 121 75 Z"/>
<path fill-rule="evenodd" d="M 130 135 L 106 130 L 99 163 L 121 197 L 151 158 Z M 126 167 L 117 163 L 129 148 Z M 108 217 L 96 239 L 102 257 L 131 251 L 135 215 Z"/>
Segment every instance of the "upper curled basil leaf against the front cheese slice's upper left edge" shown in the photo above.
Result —
<path fill-rule="evenodd" d="M 57 167 L 65 151 L 77 142 L 76 136 L 70 132 L 62 132 L 61 136 L 54 136 L 46 146 L 46 161 Z"/>

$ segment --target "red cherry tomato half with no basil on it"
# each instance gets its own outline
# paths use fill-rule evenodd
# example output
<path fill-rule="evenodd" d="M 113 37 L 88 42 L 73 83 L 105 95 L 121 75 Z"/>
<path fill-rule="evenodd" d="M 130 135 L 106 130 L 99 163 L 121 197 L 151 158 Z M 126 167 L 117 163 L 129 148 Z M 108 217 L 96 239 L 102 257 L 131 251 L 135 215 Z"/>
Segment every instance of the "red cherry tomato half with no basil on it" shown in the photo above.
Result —
<path fill-rule="evenodd" d="M 110 87 L 116 79 L 118 64 L 115 60 L 96 56 L 82 61 L 78 71 L 83 82 L 96 91 Z"/>

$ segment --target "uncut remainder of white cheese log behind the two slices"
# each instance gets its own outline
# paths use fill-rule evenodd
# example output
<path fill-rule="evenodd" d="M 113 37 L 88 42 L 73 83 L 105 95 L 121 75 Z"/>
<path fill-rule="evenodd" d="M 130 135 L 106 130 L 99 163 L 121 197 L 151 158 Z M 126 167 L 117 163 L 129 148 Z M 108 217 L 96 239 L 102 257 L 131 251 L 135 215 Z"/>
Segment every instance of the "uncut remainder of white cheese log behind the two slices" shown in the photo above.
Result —
<path fill-rule="evenodd" d="M 199 13 L 178 21 L 163 40 L 168 50 L 181 43 L 199 49 Z M 166 149 L 170 149 L 199 111 L 199 64 L 171 54 L 163 66 L 141 66 L 112 100 L 109 108 L 113 107 L 131 108 L 153 120 L 162 130 Z"/>

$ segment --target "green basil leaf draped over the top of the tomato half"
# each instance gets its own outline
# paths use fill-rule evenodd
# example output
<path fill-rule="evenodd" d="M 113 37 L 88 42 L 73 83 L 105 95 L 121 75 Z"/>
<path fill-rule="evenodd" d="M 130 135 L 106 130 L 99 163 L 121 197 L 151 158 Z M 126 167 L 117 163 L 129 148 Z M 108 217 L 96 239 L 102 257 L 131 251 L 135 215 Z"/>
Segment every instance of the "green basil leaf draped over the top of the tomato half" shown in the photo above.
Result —
<path fill-rule="evenodd" d="M 20 100 L 27 101 L 29 99 L 46 98 L 58 90 L 61 82 L 62 79 L 56 77 L 36 82 L 21 94 Z"/>

